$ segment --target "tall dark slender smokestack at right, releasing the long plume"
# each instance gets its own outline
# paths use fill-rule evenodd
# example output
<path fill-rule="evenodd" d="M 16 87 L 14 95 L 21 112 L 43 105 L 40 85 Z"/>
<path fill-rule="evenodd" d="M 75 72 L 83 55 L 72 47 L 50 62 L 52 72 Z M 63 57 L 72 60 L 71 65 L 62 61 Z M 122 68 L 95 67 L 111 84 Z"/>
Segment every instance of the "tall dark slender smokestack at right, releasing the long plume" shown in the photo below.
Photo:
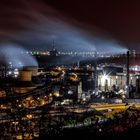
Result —
<path fill-rule="evenodd" d="M 127 86 L 127 96 L 130 97 L 129 93 L 129 50 L 127 51 L 127 65 L 126 65 L 126 86 Z"/>

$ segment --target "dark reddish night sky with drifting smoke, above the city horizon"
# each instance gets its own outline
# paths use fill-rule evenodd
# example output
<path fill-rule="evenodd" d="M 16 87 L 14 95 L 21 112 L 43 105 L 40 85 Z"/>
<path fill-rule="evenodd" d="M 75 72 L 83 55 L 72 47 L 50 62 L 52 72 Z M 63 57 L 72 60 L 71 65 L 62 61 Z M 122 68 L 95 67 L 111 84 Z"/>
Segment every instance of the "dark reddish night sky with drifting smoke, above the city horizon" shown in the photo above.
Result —
<path fill-rule="evenodd" d="M 139 49 L 140 1 L 2 0 L 0 45 L 28 49 Z M 139 49 L 140 50 L 140 49 Z"/>

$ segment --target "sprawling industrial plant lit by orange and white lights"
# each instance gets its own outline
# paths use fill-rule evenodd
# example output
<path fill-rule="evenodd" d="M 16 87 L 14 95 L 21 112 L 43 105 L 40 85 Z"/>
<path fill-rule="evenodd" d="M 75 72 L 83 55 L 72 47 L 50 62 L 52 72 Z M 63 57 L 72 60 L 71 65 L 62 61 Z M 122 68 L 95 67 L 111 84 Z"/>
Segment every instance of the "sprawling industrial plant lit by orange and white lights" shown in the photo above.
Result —
<path fill-rule="evenodd" d="M 54 53 L 50 57 L 58 59 Z M 86 119 L 92 114 L 102 114 L 95 111 L 97 103 L 121 104 L 122 108 L 129 100 L 139 100 L 138 59 L 139 54 L 127 51 L 110 57 L 94 56 L 86 61 L 76 58 L 70 64 L 47 63 L 47 59 L 46 64 L 38 60 L 38 66 L 1 64 L 0 125 L 7 128 L 7 131 L 1 129 L 1 136 L 12 139 L 50 136 L 54 133 L 49 130 L 54 127 L 51 123 L 54 120 L 60 123 L 59 119 L 63 122 L 68 114 Z M 92 113 L 84 115 L 87 111 Z M 61 129 L 65 127 L 62 124 Z"/>

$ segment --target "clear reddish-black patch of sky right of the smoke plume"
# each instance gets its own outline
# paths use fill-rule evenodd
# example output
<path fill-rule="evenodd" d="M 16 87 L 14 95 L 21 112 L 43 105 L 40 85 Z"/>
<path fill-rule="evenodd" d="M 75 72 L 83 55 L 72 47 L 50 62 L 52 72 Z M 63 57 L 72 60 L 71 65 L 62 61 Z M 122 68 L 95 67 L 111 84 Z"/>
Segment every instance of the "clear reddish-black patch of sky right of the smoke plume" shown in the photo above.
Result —
<path fill-rule="evenodd" d="M 79 22 L 106 30 L 128 48 L 138 49 L 134 44 L 140 42 L 139 0 L 49 0 L 49 3 Z"/>

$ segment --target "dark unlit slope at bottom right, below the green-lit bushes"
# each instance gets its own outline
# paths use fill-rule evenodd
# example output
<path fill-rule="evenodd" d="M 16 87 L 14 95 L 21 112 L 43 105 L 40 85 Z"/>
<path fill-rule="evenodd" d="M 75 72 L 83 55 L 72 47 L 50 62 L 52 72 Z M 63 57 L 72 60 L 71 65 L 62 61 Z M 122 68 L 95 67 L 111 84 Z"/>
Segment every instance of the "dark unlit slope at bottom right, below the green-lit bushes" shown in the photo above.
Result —
<path fill-rule="evenodd" d="M 41 132 L 38 139 L 136 140 L 140 138 L 140 110 L 130 107 L 104 123 L 61 131 L 57 131 L 58 127 L 55 127 L 54 130 L 47 134 Z"/>

